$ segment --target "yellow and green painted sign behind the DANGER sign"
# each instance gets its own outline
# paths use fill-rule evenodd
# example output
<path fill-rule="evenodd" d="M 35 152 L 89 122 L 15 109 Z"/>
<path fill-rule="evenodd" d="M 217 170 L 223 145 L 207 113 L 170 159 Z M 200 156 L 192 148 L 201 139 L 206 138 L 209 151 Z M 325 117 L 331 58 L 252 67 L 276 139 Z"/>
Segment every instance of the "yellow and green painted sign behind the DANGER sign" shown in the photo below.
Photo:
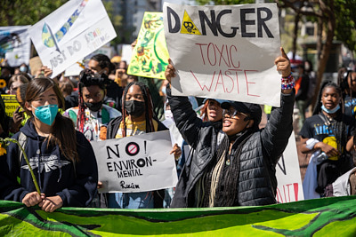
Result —
<path fill-rule="evenodd" d="M 168 58 L 162 12 L 145 12 L 127 74 L 166 79 Z"/>

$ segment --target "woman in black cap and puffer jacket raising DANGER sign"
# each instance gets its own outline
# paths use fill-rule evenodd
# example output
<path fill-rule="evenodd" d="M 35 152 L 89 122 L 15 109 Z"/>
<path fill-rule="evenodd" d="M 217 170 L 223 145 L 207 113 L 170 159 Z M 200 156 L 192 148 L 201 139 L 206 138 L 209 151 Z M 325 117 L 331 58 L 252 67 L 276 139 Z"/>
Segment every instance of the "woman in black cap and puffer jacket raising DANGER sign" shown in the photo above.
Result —
<path fill-rule="evenodd" d="M 185 97 L 167 96 L 174 121 L 194 153 L 182 170 L 171 207 L 217 207 L 275 203 L 275 167 L 293 130 L 294 79 L 286 53 L 275 60 L 282 73 L 280 107 L 263 130 L 261 107 L 224 102 L 223 130 L 202 122 Z M 166 78 L 175 76 L 170 61 Z M 173 79 L 174 80 L 174 79 Z"/>

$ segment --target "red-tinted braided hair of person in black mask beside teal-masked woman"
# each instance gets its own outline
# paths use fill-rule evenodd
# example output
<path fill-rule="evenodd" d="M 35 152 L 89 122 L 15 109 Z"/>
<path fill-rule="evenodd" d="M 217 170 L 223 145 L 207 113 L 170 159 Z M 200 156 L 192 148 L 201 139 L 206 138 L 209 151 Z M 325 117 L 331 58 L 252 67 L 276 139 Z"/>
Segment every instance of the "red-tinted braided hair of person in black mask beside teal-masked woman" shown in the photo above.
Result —
<path fill-rule="evenodd" d="M 110 83 L 109 78 L 105 74 L 95 74 L 90 69 L 84 69 L 80 72 L 78 82 L 78 115 L 77 115 L 77 130 L 84 131 L 85 123 L 85 105 L 83 99 L 83 87 L 97 85 L 101 90 L 105 90 L 106 86 Z"/>

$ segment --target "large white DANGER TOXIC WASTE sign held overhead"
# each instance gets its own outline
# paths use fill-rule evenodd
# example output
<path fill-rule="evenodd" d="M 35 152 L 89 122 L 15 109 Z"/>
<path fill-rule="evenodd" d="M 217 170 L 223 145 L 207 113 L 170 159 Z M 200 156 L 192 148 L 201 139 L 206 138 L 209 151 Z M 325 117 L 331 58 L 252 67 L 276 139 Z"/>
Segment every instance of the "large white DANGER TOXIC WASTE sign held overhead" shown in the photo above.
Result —
<path fill-rule="evenodd" d="M 172 94 L 279 107 L 277 4 L 164 4 Z"/>

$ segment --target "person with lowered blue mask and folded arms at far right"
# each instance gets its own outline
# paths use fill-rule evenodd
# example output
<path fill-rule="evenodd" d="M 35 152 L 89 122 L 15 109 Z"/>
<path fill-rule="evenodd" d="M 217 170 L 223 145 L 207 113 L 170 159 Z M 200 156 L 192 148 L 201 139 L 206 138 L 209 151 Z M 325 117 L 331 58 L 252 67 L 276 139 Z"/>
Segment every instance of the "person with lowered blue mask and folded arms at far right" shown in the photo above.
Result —
<path fill-rule="evenodd" d="M 299 133 L 301 152 L 312 153 L 303 180 L 305 199 L 325 196 L 325 187 L 353 166 L 345 146 L 354 130 L 354 120 L 343 114 L 341 98 L 336 83 L 323 83 L 314 113 Z"/>

